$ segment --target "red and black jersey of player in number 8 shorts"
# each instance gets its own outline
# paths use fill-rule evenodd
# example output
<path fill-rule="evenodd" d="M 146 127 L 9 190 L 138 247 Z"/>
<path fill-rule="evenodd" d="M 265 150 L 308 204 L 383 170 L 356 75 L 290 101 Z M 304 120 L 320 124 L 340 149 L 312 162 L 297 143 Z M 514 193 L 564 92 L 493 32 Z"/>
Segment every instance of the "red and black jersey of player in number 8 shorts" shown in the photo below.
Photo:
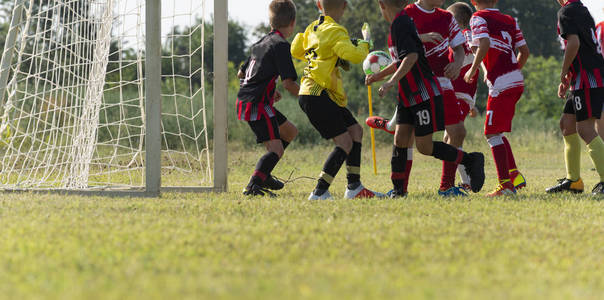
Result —
<path fill-rule="evenodd" d="M 596 22 L 581 1 L 569 0 L 558 11 L 558 33 L 565 44 L 570 35 L 578 36 L 581 43 L 570 70 L 571 90 L 604 87 L 604 56 L 596 37 Z"/>

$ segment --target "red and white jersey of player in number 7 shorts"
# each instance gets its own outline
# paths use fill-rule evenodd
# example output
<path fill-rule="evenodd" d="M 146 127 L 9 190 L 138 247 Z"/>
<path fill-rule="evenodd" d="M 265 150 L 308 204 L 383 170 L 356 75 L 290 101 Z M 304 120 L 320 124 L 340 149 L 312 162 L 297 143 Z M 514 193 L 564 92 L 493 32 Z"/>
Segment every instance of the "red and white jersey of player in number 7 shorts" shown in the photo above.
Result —
<path fill-rule="evenodd" d="M 524 77 L 518 66 L 516 49 L 526 45 L 518 23 L 498 9 L 479 10 L 470 20 L 472 45 L 488 38 L 491 48 L 483 61 L 487 70 L 489 94 L 497 97 L 501 92 L 524 86 Z"/>

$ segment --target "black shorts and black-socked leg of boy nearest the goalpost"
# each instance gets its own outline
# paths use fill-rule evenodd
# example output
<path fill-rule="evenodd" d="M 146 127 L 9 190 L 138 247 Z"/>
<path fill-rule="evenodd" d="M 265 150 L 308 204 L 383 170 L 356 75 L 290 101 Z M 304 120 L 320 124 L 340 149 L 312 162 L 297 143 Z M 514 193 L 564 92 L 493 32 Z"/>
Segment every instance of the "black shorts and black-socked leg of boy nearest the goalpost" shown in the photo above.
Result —
<path fill-rule="evenodd" d="M 263 143 L 267 152 L 258 160 L 254 173 L 243 194 L 249 196 L 275 196 L 264 189 L 263 183 L 270 176 L 283 155 L 279 124 L 275 117 L 269 118 L 267 115 L 261 116 L 260 120 L 250 121 L 248 124 L 256 134 L 256 141 Z"/>

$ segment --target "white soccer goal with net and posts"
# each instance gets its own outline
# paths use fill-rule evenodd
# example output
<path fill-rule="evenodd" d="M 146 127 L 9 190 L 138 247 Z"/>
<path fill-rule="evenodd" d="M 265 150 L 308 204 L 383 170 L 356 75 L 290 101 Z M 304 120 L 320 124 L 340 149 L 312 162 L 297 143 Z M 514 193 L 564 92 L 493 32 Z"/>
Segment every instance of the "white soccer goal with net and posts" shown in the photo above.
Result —
<path fill-rule="evenodd" d="M 224 190 L 226 1 L 214 2 L 207 18 L 204 0 L 15 0 L 0 188 Z"/>

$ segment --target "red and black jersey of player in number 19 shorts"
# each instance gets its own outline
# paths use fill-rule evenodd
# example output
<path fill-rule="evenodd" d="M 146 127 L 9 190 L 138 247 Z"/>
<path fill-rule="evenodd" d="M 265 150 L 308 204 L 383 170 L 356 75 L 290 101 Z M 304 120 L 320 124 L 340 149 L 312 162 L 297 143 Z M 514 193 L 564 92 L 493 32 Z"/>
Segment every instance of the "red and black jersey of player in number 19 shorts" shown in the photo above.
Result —
<path fill-rule="evenodd" d="M 441 88 L 428 64 L 422 41 L 413 20 L 402 10 L 390 26 L 388 47 L 392 59 L 400 63 L 407 55 L 417 53 L 418 60 L 403 79 L 399 81 L 399 101 L 411 107 L 442 94 Z"/>

